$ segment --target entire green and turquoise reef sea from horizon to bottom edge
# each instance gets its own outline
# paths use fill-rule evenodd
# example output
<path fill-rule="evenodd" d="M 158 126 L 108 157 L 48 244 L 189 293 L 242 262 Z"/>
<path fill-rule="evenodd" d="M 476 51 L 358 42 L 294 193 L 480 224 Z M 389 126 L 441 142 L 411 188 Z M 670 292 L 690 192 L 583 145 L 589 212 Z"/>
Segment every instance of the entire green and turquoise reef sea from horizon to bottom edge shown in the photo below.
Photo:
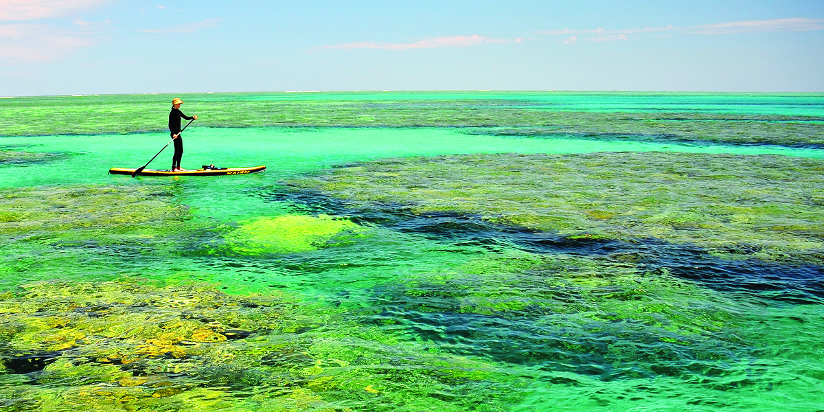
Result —
<path fill-rule="evenodd" d="M 0 101 L 0 410 L 824 410 L 822 95 L 183 98 Z"/>

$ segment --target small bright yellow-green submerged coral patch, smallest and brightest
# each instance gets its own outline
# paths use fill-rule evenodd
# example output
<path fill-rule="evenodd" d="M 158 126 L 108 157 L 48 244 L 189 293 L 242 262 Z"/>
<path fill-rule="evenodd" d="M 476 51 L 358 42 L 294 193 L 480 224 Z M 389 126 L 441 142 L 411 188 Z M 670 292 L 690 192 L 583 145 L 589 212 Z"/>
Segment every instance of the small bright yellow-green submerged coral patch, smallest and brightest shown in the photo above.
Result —
<path fill-rule="evenodd" d="M 335 236 L 356 231 L 358 225 L 348 219 L 283 215 L 240 222 L 238 228 L 224 238 L 237 254 L 285 254 L 317 250 Z"/>

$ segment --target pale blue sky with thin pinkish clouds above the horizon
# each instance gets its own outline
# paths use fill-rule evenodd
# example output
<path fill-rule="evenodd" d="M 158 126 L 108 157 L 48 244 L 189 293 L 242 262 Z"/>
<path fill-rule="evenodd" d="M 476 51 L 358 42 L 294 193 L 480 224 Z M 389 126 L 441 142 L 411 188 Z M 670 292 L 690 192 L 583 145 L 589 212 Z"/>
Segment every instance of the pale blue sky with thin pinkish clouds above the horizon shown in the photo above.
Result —
<path fill-rule="evenodd" d="M 0 96 L 824 91 L 824 0 L 0 0 Z"/>

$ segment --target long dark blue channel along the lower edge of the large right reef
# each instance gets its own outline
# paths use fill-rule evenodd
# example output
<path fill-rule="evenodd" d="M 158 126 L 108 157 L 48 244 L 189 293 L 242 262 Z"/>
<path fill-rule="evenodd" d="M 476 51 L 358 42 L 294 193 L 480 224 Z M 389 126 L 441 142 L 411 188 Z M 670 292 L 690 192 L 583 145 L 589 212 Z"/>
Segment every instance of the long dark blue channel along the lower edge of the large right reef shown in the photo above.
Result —
<path fill-rule="evenodd" d="M 325 213 L 361 225 L 379 225 L 442 242 L 445 250 L 478 253 L 516 248 L 536 254 L 566 254 L 602 260 L 624 260 L 639 270 L 664 270 L 715 290 L 791 303 L 824 303 L 824 265 L 765 262 L 746 248 L 734 250 L 741 260 L 721 259 L 693 245 L 659 239 L 615 240 L 559 236 L 485 221 L 466 213 L 412 213 L 409 204 L 354 204 L 317 191 L 285 188 L 265 199 L 293 204 L 303 213 Z"/>

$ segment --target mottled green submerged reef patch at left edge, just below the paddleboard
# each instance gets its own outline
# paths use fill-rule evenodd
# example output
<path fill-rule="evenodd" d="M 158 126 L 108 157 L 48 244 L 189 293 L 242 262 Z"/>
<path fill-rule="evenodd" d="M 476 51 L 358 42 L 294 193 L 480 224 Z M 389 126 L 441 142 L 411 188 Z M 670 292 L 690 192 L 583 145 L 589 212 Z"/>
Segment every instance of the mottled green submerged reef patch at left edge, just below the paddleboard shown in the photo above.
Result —
<path fill-rule="evenodd" d="M 139 184 L 0 190 L 0 284 L 176 268 L 192 239 L 220 229 L 194 221 L 178 194 Z"/>

